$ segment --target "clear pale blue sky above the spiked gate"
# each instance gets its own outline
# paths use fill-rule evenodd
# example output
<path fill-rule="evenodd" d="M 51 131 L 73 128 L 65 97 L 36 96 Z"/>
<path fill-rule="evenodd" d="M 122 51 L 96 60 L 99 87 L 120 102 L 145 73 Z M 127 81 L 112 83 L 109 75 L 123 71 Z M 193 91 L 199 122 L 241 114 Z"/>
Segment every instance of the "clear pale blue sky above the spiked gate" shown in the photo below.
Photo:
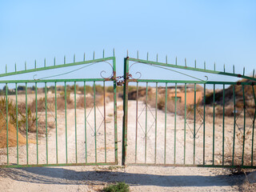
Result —
<path fill-rule="evenodd" d="M 250 74 L 256 63 L 256 1 L 1 1 L 0 73 L 42 65 L 43 59 L 62 63 L 63 55 L 82 60 L 112 55 L 118 75 L 126 50 L 130 57 L 178 62 L 197 59 L 207 68 Z M 50 64 L 49 64 L 50 65 Z"/>

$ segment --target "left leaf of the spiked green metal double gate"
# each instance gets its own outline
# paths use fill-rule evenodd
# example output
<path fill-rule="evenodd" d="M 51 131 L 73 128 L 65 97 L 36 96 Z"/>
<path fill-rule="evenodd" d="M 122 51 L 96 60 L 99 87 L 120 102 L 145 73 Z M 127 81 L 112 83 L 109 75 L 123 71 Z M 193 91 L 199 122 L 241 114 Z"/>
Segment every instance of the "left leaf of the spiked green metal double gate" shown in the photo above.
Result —
<path fill-rule="evenodd" d="M 77 78 L 84 68 L 85 75 L 98 71 L 101 77 Z M 49 76 L 38 78 L 40 71 Z M 11 78 L 0 81 L 0 167 L 118 164 L 114 56 L 105 58 L 103 51 L 102 58 L 84 55 L 76 62 L 74 55 L 61 65 L 54 58 L 50 66 L 45 59 L 33 69 L 6 67 L 0 77 Z"/>

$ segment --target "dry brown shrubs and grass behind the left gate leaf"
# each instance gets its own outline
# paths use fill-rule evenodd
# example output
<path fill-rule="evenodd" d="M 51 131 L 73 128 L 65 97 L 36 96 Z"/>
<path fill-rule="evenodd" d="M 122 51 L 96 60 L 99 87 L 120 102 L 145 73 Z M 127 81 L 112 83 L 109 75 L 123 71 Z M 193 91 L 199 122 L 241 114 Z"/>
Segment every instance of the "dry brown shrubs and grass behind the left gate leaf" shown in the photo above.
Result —
<path fill-rule="evenodd" d="M 25 94 L 24 87 L 19 88 L 18 97 Z M 54 91 L 54 87 L 47 88 L 47 93 L 49 91 Z M 104 90 L 102 86 L 95 86 L 95 101 L 94 101 L 94 89 L 92 86 L 86 86 L 86 99 L 84 98 L 84 86 L 76 86 L 77 91 L 77 99 L 76 99 L 76 107 L 84 108 L 94 106 L 94 102 L 96 106 L 102 106 L 105 102 L 113 102 L 114 94 L 113 89 L 106 87 L 105 97 Z M 3 93 L 2 91 L 1 93 Z M 15 93 L 14 91 L 8 90 L 8 93 Z M 33 97 L 34 95 L 34 87 L 29 87 L 27 90 L 28 98 Z M 47 106 L 47 114 L 54 114 L 55 111 L 55 102 L 57 106 L 57 110 L 69 110 L 74 109 L 74 86 L 66 86 L 66 96 L 64 92 L 64 87 L 58 87 L 56 92 L 56 101 L 55 97 L 48 96 L 44 97 L 45 88 L 38 88 L 38 99 L 32 100 L 32 102 L 28 102 L 26 106 L 25 101 L 21 101 L 22 99 L 18 98 L 18 106 L 16 109 L 15 100 L 8 98 L 6 102 L 6 97 L 0 98 L 0 148 L 6 146 L 6 103 L 8 105 L 8 141 L 9 146 L 16 146 L 17 144 L 17 126 L 18 126 L 18 144 L 25 145 L 26 144 L 26 129 L 31 134 L 35 133 L 38 130 L 39 136 L 41 134 L 45 134 L 46 130 L 46 122 L 44 118 L 40 118 L 45 116 L 46 106 Z M 39 95 L 41 97 L 39 97 Z M 85 102 L 86 100 L 86 102 Z M 29 100 L 28 100 L 29 101 Z M 85 105 L 86 103 L 86 105 Z M 37 105 L 36 105 L 37 104 Z M 36 107 L 37 106 L 37 107 Z M 38 110 L 38 129 L 36 127 L 36 110 Z M 17 125 L 18 124 L 18 125 Z M 47 122 L 47 128 L 54 128 L 54 122 Z M 34 142 L 29 140 L 29 142 Z"/>

